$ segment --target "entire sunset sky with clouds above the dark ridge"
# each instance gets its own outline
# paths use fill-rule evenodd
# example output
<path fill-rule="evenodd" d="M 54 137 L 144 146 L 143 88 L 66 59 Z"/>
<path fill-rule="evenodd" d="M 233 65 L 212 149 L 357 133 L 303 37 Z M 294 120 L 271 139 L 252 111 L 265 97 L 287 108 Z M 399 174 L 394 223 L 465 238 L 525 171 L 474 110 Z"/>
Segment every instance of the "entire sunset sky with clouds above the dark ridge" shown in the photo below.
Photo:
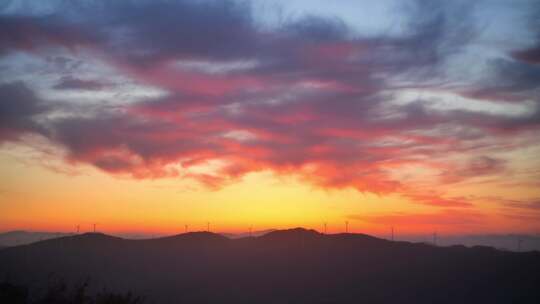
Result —
<path fill-rule="evenodd" d="M 0 28 L 0 231 L 540 232 L 537 1 L 2 1 Z"/>

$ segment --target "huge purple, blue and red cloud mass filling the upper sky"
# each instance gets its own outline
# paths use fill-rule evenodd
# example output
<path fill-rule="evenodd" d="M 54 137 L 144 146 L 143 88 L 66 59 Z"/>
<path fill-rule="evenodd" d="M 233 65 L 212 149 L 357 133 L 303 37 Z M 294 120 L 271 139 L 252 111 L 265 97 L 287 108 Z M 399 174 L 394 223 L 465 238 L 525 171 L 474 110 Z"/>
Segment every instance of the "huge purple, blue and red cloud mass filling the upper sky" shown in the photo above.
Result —
<path fill-rule="evenodd" d="M 437 110 L 420 97 L 397 102 L 404 87 L 472 98 L 519 94 L 515 102 L 535 90 L 537 67 L 512 58 L 491 61 L 496 77 L 474 90 L 440 84 L 450 60 L 475 38 L 474 7 L 417 1 L 404 10 L 408 18 L 399 33 L 368 36 L 337 17 L 288 18 L 265 27 L 253 5 L 61 2 L 47 15 L 0 15 L 8 29 L 0 34 L 1 52 L 53 62 L 59 82 L 48 85 L 55 96 L 110 90 L 106 77 L 66 68 L 88 58 L 165 92 L 132 103 L 114 94 L 115 106 L 86 111 L 82 103 L 51 102 L 50 95 L 38 94 L 50 94 L 38 80 L 3 85 L 1 126 L 9 136 L 0 140 L 35 132 L 65 148 L 68 163 L 134 178 L 195 178 L 217 188 L 249 172 L 271 170 L 323 188 L 406 194 L 410 185 L 395 171 L 434 168 L 455 154 L 473 160 L 457 170 L 438 169 L 466 178 L 501 174 L 505 163 L 488 156 L 491 151 L 470 151 L 497 149 L 509 136 L 540 126 L 540 108 L 534 106 L 504 116 Z M 66 54 L 77 60 L 66 63 Z M 450 134 L 457 127 L 463 132 Z M 210 173 L 193 171 L 215 161 L 222 166 Z M 439 207 L 470 206 L 461 198 L 410 198 Z"/>

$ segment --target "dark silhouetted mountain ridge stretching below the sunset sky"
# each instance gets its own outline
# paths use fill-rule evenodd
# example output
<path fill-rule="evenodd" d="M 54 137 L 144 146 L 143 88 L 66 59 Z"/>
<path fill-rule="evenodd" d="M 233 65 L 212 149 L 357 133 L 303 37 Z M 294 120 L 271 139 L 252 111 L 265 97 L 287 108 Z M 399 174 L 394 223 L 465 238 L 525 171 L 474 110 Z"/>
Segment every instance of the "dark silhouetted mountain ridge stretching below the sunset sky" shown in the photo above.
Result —
<path fill-rule="evenodd" d="M 51 276 L 149 303 L 540 303 L 540 253 L 439 248 L 293 229 L 230 240 L 85 234 L 0 251 L 0 280 Z"/>

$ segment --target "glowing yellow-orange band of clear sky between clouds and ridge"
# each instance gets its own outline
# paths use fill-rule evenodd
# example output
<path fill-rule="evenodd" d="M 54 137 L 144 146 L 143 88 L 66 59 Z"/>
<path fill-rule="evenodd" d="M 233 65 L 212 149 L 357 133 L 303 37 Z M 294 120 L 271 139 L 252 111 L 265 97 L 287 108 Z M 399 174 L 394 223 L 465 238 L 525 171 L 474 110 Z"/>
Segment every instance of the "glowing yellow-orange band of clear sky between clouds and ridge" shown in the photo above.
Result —
<path fill-rule="evenodd" d="M 375 195 L 354 189 L 321 189 L 294 176 L 276 176 L 269 171 L 246 175 L 238 182 L 210 190 L 190 180 L 136 180 L 108 175 L 89 166 L 78 174 L 55 172 L 35 163 L 18 160 L 14 150 L 0 153 L 3 181 L 0 196 L 0 230 L 90 231 L 92 224 L 107 233 L 144 232 L 174 234 L 205 230 L 245 232 L 306 227 L 342 232 L 349 221 L 350 231 L 385 235 L 393 217 L 402 233 L 446 233 L 534 231 L 538 225 L 516 224 L 497 216 L 492 204 L 479 202 L 474 212 L 484 213 L 482 224 L 437 225 L 402 220 L 400 215 L 437 213 L 438 209 L 411 202 L 399 195 Z M 467 187 L 462 186 L 464 193 Z M 475 186 L 476 193 L 492 191 Z M 483 190 L 484 189 L 484 190 Z M 470 189 L 469 189 L 470 190 Z M 508 190 L 500 190 L 501 192 Z M 458 191 L 459 192 L 459 191 Z M 466 210 L 467 211 L 467 210 Z M 390 215 L 386 220 L 385 215 Z M 363 220 L 377 218 L 380 222 Z"/>

